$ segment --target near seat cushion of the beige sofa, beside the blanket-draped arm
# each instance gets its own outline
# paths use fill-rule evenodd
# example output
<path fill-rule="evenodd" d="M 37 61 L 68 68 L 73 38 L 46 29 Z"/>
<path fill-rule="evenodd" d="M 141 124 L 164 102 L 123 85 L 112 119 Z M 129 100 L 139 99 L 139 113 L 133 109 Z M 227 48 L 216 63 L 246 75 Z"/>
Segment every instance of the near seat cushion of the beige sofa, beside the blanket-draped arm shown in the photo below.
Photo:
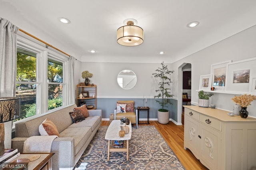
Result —
<path fill-rule="evenodd" d="M 82 148 L 86 140 L 88 140 L 88 138 L 92 134 L 91 129 L 92 129 L 91 127 L 66 128 L 65 130 L 60 132 L 60 137 L 74 138 L 75 155 L 76 155 L 79 152 L 79 150 Z"/>

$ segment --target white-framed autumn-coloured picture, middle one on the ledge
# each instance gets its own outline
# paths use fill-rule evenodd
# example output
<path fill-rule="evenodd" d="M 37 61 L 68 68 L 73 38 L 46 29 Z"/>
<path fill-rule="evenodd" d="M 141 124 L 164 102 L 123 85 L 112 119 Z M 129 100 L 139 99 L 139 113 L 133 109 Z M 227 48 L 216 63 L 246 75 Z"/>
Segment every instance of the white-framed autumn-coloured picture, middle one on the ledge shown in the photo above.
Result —
<path fill-rule="evenodd" d="M 215 91 L 226 90 L 227 64 L 231 62 L 232 60 L 229 60 L 211 65 L 212 86 Z"/>

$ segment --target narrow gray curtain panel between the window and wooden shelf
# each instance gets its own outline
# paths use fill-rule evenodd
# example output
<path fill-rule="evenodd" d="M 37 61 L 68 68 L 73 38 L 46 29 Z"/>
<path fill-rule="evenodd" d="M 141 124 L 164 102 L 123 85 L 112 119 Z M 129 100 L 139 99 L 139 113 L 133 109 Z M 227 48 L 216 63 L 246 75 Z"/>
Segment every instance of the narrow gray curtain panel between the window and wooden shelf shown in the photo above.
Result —
<path fill-rule="evenodd" d="M 74 85 L 74 69 L 76 58 L 70 56 L 69 58 L 69 104 L 75 103 L 75 85 Z"/>

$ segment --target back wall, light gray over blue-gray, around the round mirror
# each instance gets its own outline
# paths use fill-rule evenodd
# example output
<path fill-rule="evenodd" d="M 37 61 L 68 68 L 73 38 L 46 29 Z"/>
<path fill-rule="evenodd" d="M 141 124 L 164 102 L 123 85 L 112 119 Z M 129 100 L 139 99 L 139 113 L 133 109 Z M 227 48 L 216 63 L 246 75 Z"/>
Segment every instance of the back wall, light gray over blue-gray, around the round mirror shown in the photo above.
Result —
<path fill-rule="evenodd" d="M 97 109 L 102 109 L 103 118 L 109 119 L 118 100 L 134 100 L 136 107 L 143 106 L 142 97 L 144 95 L 144 105 L 147 97 L 147 106 L 150 107 L 150 119 L 156 120 L 157 110 L 161 107 L 154 99 L 158 81 L 152 76 L 152 73 L 160 66 L 160 63 L 91 63 L 77 60 L 75 79 L 78 84 L 84 82 L 81 77 L 82 71 L 88 70 L 93 73 L 90 83 L 97 85 Z M 132 89 L 122 89 L 117 83 L 117 75 L 124 69 L 134 71 L 137 76 L 137 83 Z M 172 107 L 169 106 L 166 109 L 170 111 L 171 119 Z M 146 114 L 142 112 L 140 119 L 146 119 Z"/>

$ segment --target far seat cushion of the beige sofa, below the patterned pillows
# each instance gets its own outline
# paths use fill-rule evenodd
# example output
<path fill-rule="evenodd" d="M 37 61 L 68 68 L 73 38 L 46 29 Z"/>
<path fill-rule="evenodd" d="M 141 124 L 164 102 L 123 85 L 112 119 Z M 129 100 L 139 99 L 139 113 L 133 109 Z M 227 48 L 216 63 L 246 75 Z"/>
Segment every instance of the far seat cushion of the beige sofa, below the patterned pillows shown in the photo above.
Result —
<path fill-rule="evenodd" d="M 90 116 L 87 117 L 84 121 L 79 123 L 73 123 L 68 128 L 78 128 L 78 127 L 92 127 L 92 131 L 98 126 L 101 122 L 100 116 Z"/>

